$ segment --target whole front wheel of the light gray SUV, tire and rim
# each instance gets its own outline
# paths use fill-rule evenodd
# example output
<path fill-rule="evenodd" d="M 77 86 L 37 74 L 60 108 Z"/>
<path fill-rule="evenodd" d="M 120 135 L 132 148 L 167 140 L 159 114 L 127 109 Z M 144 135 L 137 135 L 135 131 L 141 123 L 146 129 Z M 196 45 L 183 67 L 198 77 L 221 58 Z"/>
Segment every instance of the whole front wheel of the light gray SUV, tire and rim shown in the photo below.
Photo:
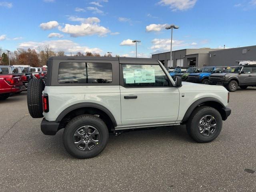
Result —
<path fill-rule="evenodd" d="M 186 129 L 189 136 L 196 142 L 211 142 L 220 134 L 222 117 L 216 109 L 200 106 L 192 112 Z"/>

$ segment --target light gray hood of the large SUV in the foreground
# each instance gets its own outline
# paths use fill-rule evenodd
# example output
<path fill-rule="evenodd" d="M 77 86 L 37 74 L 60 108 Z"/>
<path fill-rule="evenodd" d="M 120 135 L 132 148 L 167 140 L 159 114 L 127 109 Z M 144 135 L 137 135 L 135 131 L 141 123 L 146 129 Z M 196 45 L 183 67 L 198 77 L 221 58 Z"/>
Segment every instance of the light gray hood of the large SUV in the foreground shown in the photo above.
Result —
<path fill-rule="evenodd" d="M 224 86 L 216 86 L 216 85 L 206 85 L 199 83 L 190 83 L 190 82 L 182 82 L 182 87 L 179 88 L 180 91 L 226 91 Z"/>

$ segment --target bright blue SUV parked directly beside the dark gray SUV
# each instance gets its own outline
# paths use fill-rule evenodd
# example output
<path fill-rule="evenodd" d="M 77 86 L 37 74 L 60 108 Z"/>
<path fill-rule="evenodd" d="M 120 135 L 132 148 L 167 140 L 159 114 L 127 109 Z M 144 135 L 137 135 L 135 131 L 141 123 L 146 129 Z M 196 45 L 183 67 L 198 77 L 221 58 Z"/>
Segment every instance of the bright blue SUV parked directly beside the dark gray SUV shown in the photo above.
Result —
<path fill-rule="evenodd" d="M 209 84 L 209 76 L 212 73 L 223 73 L 223 67 L 205 67 L 200 73 L 191 73 L 188 75 L 188 82 Z"/>

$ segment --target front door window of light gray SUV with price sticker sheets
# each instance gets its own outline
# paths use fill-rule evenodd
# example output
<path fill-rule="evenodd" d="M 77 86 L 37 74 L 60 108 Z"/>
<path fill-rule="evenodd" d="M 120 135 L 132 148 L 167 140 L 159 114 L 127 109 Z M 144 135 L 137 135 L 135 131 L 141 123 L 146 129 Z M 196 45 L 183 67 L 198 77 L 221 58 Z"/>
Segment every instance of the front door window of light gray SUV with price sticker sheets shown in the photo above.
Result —
<path fill-rule="evenodd" d="M 122 64 L 124 87 L 164 87 L 170 82 L 160 65 Z"/>

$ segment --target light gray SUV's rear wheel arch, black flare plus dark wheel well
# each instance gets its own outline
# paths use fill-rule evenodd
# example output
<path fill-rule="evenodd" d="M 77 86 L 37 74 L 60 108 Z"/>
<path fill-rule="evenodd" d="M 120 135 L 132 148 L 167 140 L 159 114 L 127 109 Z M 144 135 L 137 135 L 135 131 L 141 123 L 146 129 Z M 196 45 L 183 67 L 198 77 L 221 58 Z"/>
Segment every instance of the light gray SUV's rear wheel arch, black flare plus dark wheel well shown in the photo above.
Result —
<path fill-rule="evenodd" d="M 59 114 L 56 121 L 63 122 L 66 118 L 72 118 L 80 114 L 99 114 L 107 126 L 108 124 L 111 124 L 111 128 L 117 126 L 113 114 L 106 107 L 96 103 L 78 103 L 69 106 Z"/>

